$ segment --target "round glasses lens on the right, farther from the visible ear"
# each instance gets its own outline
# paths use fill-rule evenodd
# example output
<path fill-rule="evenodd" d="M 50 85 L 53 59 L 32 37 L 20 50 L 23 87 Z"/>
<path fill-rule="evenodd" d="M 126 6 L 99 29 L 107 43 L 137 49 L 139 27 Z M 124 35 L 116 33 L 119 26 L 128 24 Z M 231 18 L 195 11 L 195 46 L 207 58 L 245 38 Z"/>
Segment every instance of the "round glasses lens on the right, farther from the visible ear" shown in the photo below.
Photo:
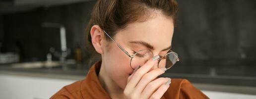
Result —
<path fill-rule="evenodd" d="M 178 54 L 175 52 L 169 52 L 161 58 L 158 64 L 159 68 L 171 68 L 177 61 L 179 61 Z"/>

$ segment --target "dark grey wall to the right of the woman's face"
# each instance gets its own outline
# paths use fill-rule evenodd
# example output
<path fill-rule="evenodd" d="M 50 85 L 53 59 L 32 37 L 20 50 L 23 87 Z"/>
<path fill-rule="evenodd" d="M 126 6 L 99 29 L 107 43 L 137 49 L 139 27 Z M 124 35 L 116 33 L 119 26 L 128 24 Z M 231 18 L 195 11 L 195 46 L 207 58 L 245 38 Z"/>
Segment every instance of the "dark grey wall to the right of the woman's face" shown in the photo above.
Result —
<path fill-rule="evenodd" d="M 173 48 L 182 59 L 256 60 L 256 0 L 178 0 L 178 4 Z"/>

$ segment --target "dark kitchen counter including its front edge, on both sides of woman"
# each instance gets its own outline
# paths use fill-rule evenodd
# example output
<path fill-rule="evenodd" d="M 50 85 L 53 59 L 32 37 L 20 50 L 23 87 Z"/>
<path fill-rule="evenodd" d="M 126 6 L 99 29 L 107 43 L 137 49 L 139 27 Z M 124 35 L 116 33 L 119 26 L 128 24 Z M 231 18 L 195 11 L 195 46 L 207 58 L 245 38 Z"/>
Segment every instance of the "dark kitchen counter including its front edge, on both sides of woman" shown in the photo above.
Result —
<path fill-rule="evenodd" d="M 238 66 L 237 66 L 238 67 Z M 243 66 L 244 68 L 245 66 Z M 0 65 L 0 74 L 7 75 L 19 75 L 19 76 L 30 76 L 30 77 L 41 77 L 41 78 L 53 78 L 53 79 L 69 79 L 69 80 L 81 80 L 86 77 L 89 67 L 68 65 L 68 66 L 57 66 L 52 68 L 13 68 L 8 64 Z M 192 82 L 192 84 L 200 90 L 230 92 L 230 93 L 242 93 L 256 95 L 256 76 L 252 72 L 251 76 L 246 73 L 236 72 L 235 69 L 228 69 L 226 74 L 222 73 L 225 68 L 213 68 L 206 66 L 176 66 L 168 70 L 163 77 L 171 78 L 184 78 Z M 241 70 L 241 68 L 238 68 Z M 251 70 L 255 69 L 243 69 Z M 231 72 L 232 71 L 232 72 Z M 244 74 L 244 75 L 238 75 Z"/>

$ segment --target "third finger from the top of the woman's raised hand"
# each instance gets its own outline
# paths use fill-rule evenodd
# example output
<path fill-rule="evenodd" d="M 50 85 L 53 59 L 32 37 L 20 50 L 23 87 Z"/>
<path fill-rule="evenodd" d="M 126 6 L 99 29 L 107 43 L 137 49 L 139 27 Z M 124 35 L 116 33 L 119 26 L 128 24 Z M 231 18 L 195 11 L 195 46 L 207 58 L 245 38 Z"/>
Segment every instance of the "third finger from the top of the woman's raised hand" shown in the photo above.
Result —
<path fill-rule="evenodd" d="M 160 86 L 165 85 L 166 83 L 168 83 L 169 81 L 171 81 L 170 78 L 158 78 L 152 82 L 150 82 L 149 84 L 147 84 L 146 88 L 143 90 L 141 96 L 144 99 L 148 99 L 151 97 L 151 95 L 159 89 Z M 168 84 L 169 85 L 169 84 Z"/>

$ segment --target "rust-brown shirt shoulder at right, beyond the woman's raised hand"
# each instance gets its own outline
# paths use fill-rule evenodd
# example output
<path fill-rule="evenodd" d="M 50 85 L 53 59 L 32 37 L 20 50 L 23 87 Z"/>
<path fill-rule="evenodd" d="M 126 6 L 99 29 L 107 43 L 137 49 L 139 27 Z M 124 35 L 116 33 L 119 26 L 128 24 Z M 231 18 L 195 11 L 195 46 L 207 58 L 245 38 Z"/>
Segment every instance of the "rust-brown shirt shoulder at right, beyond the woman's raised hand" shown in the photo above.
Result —
<path fill-rule="evenodd" d="M 193 87 L 187 79 L 172 79 L 164 97 L 166 99 L 209 99 L 200 90 Z"/>

